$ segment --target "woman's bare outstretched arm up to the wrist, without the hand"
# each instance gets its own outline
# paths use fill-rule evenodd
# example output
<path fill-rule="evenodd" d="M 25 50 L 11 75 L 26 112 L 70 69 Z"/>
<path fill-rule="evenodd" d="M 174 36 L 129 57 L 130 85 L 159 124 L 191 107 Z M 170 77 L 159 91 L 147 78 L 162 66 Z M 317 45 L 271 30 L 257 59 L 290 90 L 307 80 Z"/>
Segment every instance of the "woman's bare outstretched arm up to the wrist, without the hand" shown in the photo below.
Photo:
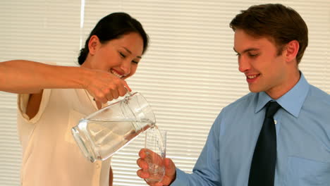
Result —
<path fill-rule="evenodd" d="M 0 90 L 35 94 L 47 88 L 83 88 L 89 70 L 52 66 L 34 61 L 14 60 L 0 63 Z"/>

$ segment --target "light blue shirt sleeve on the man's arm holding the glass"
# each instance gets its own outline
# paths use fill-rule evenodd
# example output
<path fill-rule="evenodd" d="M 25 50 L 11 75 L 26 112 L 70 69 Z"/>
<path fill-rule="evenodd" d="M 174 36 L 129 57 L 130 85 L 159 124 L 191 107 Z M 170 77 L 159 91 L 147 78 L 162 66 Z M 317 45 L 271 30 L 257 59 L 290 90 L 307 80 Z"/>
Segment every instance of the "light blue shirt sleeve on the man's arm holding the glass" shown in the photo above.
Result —
<path fill-rule="evenodd" d="M 176 180 L 171 186 L 221 186 L 219 167 L 219 122 L 220 117 L 212 125 L 207 142 L 197 159 L 192 174 L 176 169 Z"/>

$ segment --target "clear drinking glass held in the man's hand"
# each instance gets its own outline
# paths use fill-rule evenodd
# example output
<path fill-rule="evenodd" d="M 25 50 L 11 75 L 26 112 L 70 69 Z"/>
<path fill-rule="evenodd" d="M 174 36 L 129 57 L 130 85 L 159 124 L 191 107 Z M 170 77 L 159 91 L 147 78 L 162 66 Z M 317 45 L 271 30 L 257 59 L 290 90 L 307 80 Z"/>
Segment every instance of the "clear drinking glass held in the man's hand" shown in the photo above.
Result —
<path fill-rule="evenodd" d="M 145 161 L 148 163 L 149 183 L 159 182 L 164 178 L 166 157 L 166 130 L 159 130 L 157 127 L 150 128 L 145 132 Z"/>

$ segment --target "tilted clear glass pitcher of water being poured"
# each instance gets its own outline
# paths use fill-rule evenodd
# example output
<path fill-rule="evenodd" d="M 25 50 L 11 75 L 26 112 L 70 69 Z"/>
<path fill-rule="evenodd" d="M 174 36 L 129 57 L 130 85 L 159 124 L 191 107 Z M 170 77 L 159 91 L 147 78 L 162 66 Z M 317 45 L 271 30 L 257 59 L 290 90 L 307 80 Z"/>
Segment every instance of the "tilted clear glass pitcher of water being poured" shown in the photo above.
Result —
<path fill-rule="evenodd" d="M 94 162 L 108 159 L 155 123 L 147 100 L 135 92 L 82 118 L 71 132 L 82 153 Z"/>

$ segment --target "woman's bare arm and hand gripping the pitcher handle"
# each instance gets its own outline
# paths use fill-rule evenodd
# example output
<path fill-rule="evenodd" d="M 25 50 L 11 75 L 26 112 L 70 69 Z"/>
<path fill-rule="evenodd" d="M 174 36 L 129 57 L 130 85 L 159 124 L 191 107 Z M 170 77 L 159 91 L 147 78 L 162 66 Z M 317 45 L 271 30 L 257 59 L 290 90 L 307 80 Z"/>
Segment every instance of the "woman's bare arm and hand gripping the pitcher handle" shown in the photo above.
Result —
<path fill-rule="evenodd" d="M 87 89 L 96 101 L 106 103 L 126 94 L 125 80 L 103 70 L 53 66 L 35 61 L 0 63 L 0 91 L 37 94 L 42 89 Z"/>

